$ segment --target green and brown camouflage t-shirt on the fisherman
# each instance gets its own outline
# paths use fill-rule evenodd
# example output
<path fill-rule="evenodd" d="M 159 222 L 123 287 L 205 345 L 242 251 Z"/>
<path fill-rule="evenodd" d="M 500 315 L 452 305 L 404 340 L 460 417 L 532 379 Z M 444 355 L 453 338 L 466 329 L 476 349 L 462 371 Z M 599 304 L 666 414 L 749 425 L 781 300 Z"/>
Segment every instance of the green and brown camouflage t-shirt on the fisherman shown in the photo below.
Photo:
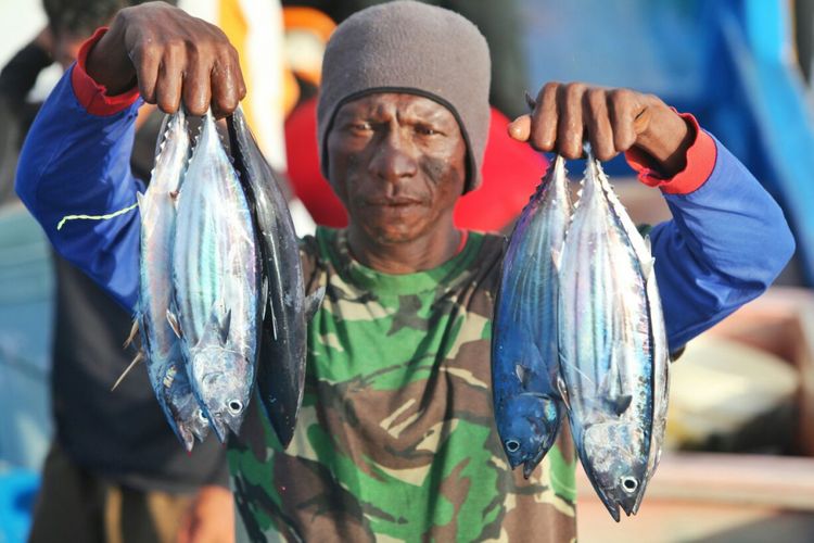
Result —
<path fill-rule="evenodd" d="M 492 413 L 489 334 L 503 238 L 471 232 L 437 268 L 387 275 L 344 231 L 303 241 L 305 399 L 283 451 L 258 402 L 230 445 L 246 541 L 571 541 L 575 459 L 560 434 L 526 481 Z"/>

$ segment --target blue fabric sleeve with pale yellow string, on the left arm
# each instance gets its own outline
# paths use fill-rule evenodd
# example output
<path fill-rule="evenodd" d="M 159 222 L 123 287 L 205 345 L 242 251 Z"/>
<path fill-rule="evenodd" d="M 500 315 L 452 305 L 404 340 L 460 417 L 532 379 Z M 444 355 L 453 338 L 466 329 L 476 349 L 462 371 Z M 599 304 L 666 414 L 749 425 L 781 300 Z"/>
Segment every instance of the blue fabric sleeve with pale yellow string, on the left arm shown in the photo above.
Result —
<path fill-rule="evenodd" d="M 140 103 L 110 116 L 91 115 L 77 101 L 68 70 L 28 132 L 16 176 L 17 194 L 56 252 L 129 311 L 138 299 L 138 209 L 56 227 L 67 215 L 107 215 L 136 203 L 136 192 L 144 190 L 130 172 Z"/>

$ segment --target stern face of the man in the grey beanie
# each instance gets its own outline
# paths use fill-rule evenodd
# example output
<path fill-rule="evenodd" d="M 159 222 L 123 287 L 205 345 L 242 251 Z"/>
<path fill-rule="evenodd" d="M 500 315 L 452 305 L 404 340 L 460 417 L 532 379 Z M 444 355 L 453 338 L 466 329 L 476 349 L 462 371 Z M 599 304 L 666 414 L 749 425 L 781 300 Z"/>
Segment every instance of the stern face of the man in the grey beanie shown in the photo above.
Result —
<path fill-rule="evenodd" d="M 351 229 L 377 243 L 404 243 L 451 225 L 466 152 L 445 106 L 377 93 L 340 108 L 328 136 L 328 175 Z"/>

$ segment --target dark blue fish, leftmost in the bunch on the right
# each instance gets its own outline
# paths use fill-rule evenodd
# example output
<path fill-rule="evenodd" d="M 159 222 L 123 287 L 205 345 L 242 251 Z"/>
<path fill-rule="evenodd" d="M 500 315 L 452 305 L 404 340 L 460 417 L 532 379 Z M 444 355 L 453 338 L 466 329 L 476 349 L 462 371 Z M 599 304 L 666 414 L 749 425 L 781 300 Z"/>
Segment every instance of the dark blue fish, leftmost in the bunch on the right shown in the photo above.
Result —
<path fill-rule="evenodd" d="M 554 258 L 573 205 L 557 155 L 523 209 L 503 262 L 492 336 L 495 421 L 512 469 L 527 479 L 560 428 L 558 288 Z"/>

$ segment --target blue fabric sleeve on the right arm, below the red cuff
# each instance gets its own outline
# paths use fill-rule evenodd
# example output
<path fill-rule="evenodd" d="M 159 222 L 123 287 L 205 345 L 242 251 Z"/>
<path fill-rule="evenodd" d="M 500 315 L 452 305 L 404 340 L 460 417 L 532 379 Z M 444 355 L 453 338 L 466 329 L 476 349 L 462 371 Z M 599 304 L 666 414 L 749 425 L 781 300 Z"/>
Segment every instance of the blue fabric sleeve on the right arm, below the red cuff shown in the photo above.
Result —
<path fill-rule="evenodd" d="M 714 139 L 714 138 L 713 138 Z M 672 352 L 768 288 L 794 252 L 777 203 L 715 140 L 715 167 L 650 232 Z"/>

